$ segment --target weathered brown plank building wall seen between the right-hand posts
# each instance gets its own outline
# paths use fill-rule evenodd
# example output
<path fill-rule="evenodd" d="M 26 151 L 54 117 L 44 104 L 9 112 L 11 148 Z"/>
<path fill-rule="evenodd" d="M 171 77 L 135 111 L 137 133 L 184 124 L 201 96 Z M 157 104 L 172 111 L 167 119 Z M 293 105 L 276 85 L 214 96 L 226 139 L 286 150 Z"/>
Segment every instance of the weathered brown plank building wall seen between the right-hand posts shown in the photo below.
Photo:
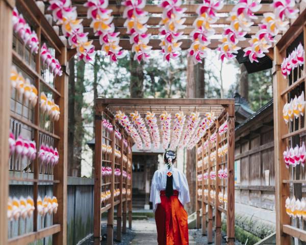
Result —
<path fill-rule="evenodd" d="M 236 130 L 235 161 L 240 161 L 240 183 L 235 200 L 274 210 L 273 107 L 269 106 Z M 269 170 L 266 181 L 265 170 Z"/>

